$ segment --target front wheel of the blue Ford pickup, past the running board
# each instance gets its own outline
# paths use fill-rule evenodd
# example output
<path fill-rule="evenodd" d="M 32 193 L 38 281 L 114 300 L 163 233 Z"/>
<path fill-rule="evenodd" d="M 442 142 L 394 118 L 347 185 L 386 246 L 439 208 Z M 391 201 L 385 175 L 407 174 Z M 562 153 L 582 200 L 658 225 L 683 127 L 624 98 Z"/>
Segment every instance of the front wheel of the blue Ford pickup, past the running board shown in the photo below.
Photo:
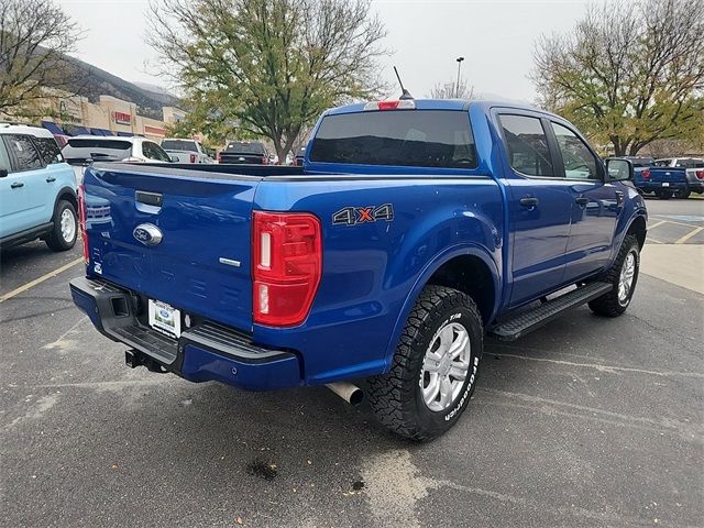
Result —
<path fill-rule="evenodd" d="M 638 239 L 632 234 L 627 234 L 620 244 L 616 261 L 602 278 L 614 287 L 608 294 L 590 301 L 588 306 L 592 311 L 604 317 L 618 317 L 626 311 L 636 290 L 639 270 L 640 245 Z"/>

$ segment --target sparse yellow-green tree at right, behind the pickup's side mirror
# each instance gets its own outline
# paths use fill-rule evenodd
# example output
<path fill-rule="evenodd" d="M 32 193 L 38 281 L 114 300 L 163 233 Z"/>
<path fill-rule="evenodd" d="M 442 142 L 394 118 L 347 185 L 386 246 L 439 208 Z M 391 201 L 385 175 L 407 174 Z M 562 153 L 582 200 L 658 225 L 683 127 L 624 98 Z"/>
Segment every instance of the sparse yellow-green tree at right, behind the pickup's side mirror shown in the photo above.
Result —
<path fill-rule="evenodd" d="M 539 103 L 617 155 L 702 133 L 704 0 L 592 7 L 570 33 L 541 38 L 535 61 Z"/>

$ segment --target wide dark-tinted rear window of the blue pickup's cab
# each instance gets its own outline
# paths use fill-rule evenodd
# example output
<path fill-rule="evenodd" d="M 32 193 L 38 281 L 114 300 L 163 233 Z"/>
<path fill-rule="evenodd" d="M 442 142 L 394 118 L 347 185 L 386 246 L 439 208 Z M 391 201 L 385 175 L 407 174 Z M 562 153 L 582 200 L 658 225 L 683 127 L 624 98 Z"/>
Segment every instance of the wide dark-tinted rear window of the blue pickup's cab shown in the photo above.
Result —
<path fill-rule="evenodd" d="M 407 167 L 475 168 L 466 112 L 391 110 L 323 118 L 311 162 Z"/>

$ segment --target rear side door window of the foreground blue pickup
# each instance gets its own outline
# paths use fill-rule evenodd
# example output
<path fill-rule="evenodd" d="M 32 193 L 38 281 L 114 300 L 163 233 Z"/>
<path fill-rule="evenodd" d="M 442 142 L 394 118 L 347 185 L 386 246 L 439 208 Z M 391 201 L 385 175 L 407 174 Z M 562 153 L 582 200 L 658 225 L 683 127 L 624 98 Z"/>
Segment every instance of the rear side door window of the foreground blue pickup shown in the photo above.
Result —
<path fill-rule="evenodd" d="M 499 117 L 508 150 L 508 163 L 527 176 L 554 176 L 548 136 L 538 118 L 528 116 Z"/>

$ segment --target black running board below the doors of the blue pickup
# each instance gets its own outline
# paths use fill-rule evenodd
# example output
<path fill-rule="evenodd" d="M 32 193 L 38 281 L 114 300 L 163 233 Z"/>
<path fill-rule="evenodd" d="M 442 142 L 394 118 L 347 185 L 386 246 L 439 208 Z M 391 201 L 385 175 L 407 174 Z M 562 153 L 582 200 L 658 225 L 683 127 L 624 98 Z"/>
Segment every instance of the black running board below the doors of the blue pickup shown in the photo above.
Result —
<path fill-rule="evenodd" d="M 550 299 L 539 307 L 520 314 L 490 328 L 488 334 L 502 341 L 514 341 L 547 322 L 557 319 L 568 310 L 584 305 L 612 290 L 609 283 L 591 283 Z"/>

